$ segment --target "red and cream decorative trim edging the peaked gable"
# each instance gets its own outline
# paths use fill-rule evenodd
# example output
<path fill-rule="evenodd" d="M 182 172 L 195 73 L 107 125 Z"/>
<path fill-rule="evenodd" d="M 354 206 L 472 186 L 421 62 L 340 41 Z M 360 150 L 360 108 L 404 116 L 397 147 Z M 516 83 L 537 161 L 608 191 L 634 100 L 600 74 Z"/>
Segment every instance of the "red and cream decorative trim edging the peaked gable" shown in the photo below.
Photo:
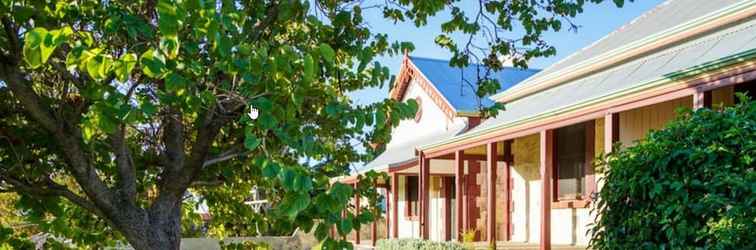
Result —
<path fill-rule="evenodd" d="M 405 54 L 402 59 L 402 66 L 399 70 L 399 76 L 396 78 L 394 88 L 389 92 L 391 99 L 401 101 L 406 94 L 412 80 L 420 86 L 425 93 L 428 93 L 433 103 L 438 105 L 446 117 L 451 120 L 457 115 L 457 111 L 451 106 L 449 101 L 444 97 L 438 89 L 423 75 L 423 72 L 412 63 L 412 60 Z"/>

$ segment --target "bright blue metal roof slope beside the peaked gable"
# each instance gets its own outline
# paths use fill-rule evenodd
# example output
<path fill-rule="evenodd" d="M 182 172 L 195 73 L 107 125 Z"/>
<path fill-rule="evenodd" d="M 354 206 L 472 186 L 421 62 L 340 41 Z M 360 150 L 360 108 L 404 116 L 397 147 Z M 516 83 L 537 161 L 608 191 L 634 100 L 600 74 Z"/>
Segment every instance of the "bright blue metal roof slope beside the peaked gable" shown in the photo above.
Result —
<path fill-rule="evenodd" d="M 487 97 L 478 100 L 478 96 L 475 95 L 475 89 L 465 82 L 466 80 L 473 84 L 473 86 L 477 85 L 478 70 L 480 69 L 480 72 L 485 72 L 485 66 L 472 64 L 460 69 L 449 66 L 449 61 L 445 60 L 413 56 L 410 57 L 410 60 L 436 89 L 441 92 L 455 110 L 477 111 L 478 101 L 483 106 L 493 104 L 493 101 Z M 540 70 L 505 67 L 499 72 L 494 72 L 493 78 L 499 80 L 499 84 L 501 84 L 501 88 L 497 92 L 514 86 L 531 75 L 538 73 L 538 71 Z"/>

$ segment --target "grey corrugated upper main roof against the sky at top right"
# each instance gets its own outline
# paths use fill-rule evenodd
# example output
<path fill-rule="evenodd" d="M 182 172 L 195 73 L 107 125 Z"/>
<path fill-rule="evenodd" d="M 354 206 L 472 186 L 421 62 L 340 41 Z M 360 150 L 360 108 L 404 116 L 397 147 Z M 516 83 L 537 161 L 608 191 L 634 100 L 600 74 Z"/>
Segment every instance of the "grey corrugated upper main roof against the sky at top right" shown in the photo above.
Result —
<path fill-rule="evenodd" d="M 679 24 L 694 20 L 708 13 L 715 12 L 726 6 L 743 0 L 669 0 L 659 4 L 654 9 L 637 17 L 630 23 L 609 33 L 602 39 L 585 47 L 565 59 L 549 66 L 523 81 L 517 88 L 538 82 L 546 76 L 565 69 L 571 65 L 598 57 L 625 44 L 652 36 L 673 28 Z"/>

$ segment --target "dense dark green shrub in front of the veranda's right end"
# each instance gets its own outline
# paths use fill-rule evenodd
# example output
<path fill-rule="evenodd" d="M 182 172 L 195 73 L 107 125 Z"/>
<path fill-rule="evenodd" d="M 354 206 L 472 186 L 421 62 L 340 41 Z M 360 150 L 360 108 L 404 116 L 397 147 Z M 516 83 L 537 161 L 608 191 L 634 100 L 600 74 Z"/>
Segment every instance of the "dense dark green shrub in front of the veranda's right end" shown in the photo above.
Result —
<path fill-rule="evenodd" d="M 756 249 L 756 103 L 739 99 L 605 158 L 593 249 Z"/>

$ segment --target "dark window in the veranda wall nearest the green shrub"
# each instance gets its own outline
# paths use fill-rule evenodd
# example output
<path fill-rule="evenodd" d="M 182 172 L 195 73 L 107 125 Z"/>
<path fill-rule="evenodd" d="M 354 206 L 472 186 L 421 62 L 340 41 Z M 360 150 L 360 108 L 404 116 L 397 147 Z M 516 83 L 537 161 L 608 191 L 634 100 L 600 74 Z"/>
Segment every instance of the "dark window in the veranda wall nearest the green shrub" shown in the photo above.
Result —
<path fill-rule="evenodd" d="M 593 122 L 586 122 L 556 130 L 554 198 L 557 201 L 589 198 L 585 194 L 586 171 L 593 168 L 593 126 Z"/>

